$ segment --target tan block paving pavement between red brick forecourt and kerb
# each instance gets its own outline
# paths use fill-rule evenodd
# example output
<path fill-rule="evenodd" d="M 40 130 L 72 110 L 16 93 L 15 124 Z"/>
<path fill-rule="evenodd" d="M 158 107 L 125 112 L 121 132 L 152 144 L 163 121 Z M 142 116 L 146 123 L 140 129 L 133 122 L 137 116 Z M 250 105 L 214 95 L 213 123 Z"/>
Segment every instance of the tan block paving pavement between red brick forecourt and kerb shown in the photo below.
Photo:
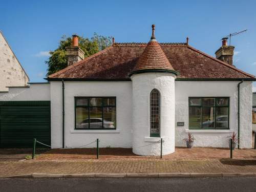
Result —
<path fill-rule="evenodd" d="M 0 162 L 0 177 L 46 173 L 256 173 L 255 160 Z"/>

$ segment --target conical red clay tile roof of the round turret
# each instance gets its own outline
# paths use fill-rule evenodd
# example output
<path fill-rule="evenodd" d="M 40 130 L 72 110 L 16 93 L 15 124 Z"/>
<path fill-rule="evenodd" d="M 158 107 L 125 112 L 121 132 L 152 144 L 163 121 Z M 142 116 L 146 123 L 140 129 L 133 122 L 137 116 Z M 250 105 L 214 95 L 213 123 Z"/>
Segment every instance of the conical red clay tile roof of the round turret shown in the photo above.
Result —
<path fill-rule="evenodd" d="M 159 42 L 155 39 L 147 43 L 143 53 L 140 55 L 132 73 L 141 70 L 170 70 L 174 71 L 168 58 L 164 54 Z"/>

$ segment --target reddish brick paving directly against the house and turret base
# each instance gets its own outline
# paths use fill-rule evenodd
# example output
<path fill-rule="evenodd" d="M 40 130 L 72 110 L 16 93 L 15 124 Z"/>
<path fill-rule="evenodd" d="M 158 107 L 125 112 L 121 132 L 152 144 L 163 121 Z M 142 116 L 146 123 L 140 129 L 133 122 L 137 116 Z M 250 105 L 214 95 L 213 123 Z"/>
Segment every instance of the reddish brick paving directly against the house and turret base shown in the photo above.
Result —
<path fill-rule="evenodd" d="M 174 161 L 174 160 L 223 160 L 229 159 L 228 148 L 176 147 L 173 154 L 163 156 L 138 156 L 131 148 L 100 148 L 96 159 L 96 148 L 54 149 L 42 153 L 34 161 Z M 256 150 L 234 150 L 233 159 L 256 160 Z"/>

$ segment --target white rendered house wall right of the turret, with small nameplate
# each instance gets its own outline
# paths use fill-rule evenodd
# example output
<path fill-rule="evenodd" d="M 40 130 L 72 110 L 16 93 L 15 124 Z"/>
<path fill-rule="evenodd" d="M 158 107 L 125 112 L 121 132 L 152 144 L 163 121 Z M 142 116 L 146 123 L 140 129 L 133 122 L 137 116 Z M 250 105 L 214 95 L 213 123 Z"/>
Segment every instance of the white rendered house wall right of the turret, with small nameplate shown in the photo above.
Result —
<path fill-rule="evenodd" d="M 194 146 L 228 147 L 227 136 L 238 133 L 238 83 L 240 81 L 176 81 L 175 82 L 175 135 L 176 146 L 185 146 L 184 138 L 188 131 L 188 97 L 230 97 L 229 127 L 230 130 L 213 133 L 192 133 L 196 140 Z M 240 147 L 251 147 L 251 109 L 252 83 L 244 81 L 240 85 Z M 184 126 L 177 126 L 184 122 Z M 196 132 L 196 131 L 195 131 Z M 226 132 L 226 133 L 221 133 Z"/>

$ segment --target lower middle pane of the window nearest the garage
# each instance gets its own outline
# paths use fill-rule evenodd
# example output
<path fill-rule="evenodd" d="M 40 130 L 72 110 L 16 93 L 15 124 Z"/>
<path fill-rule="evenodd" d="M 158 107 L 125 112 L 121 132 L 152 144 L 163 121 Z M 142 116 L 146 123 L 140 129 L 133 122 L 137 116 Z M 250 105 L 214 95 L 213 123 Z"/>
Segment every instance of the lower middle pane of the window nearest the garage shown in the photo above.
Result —
<path fill-rule="evenodd" d="M 102 128 L 102 108 L 90 108 L 90 128 Z"/>

